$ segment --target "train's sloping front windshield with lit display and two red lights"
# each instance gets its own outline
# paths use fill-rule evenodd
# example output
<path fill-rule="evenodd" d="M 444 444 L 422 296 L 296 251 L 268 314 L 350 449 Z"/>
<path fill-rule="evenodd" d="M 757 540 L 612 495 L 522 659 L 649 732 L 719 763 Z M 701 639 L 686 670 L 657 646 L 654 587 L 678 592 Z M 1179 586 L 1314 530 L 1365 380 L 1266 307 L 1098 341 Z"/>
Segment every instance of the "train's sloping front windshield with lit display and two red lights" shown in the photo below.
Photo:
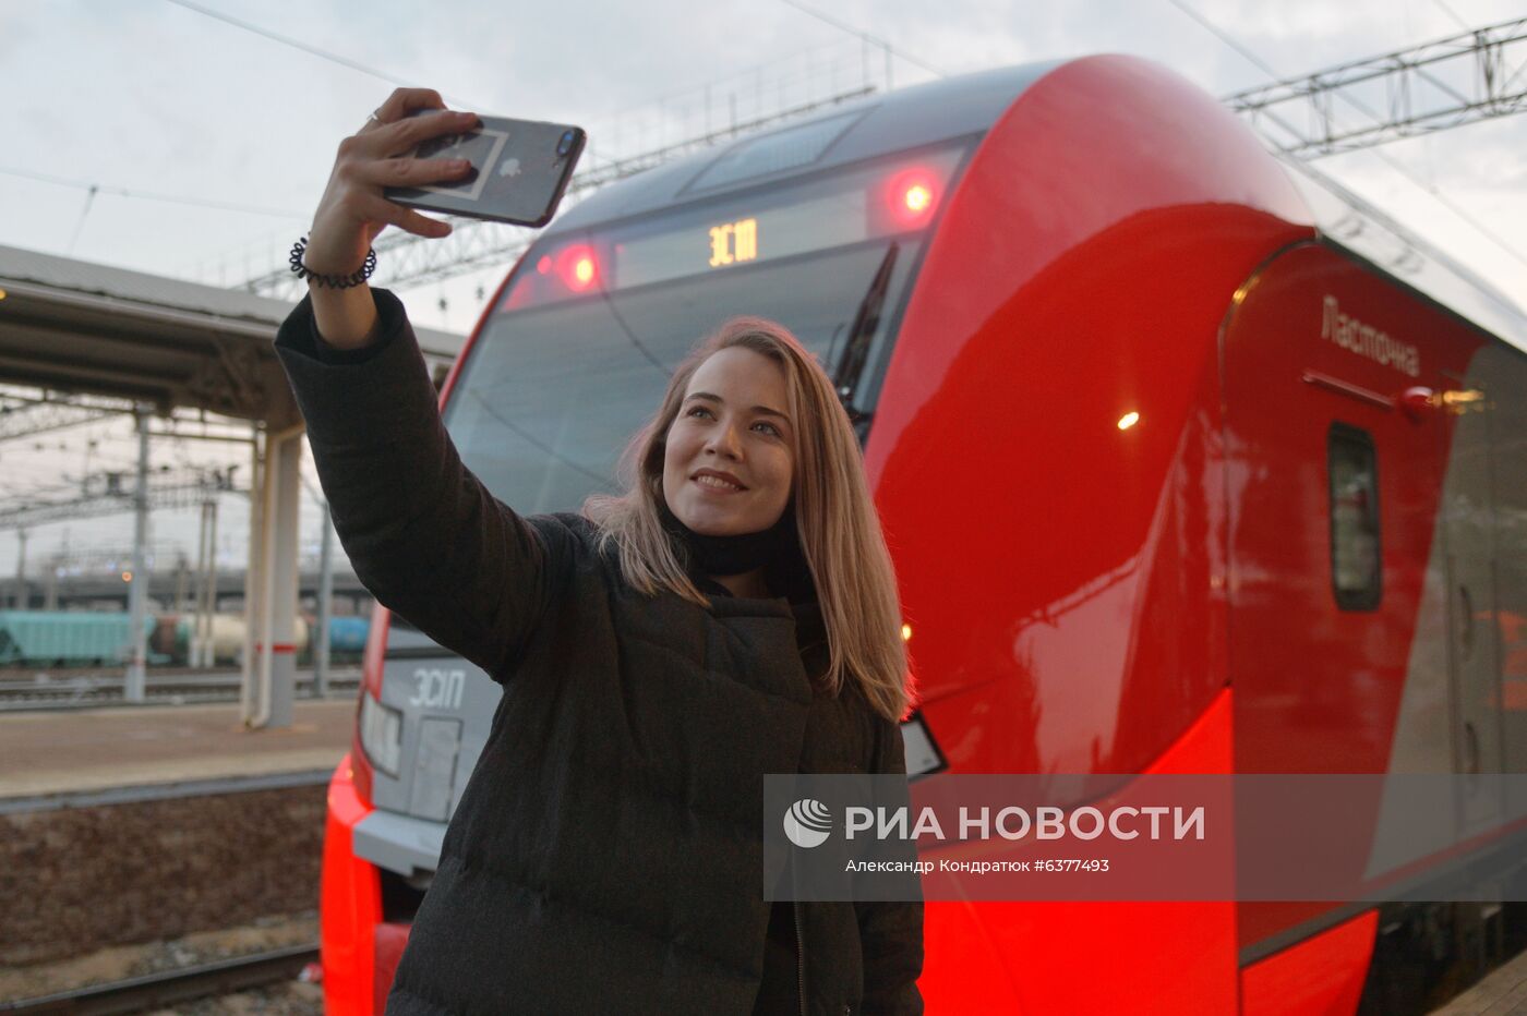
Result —
<path fill-rule="evenodd" d="M 960 151 L 696 201 L 547 238 L 484 322 L 446 409 L 466 465 L 522 514 L 618 490 L 615 464 L 695 343 L 738 314 L 779 320 L 847 386 L 889 355 Z"/>

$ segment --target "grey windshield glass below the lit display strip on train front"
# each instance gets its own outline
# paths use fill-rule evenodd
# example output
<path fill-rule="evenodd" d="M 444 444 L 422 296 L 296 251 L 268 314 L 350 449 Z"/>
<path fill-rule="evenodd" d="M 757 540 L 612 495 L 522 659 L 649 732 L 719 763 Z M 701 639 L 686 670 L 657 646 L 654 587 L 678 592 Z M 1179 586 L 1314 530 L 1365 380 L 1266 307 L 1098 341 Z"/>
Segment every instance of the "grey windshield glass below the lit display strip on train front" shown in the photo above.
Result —
<path fill-rule="evenodd" d="M 585 496 L 618 490 L 620 452 L 701 337 L 728 317 L 770 317 L 831 375 L 861 308 L 890 314 L 919 243 L 870 240 L 629 290 L 596 282 L 580 299 L 495 311 L 446 426 L 467 468 L 504 503 L 522 514 L 576 511 Z M 547 268 L 579 279 L 576 261 Z M 863 339 L 872 340 L 870 357 L 884 355 L 883 336 Z"/>

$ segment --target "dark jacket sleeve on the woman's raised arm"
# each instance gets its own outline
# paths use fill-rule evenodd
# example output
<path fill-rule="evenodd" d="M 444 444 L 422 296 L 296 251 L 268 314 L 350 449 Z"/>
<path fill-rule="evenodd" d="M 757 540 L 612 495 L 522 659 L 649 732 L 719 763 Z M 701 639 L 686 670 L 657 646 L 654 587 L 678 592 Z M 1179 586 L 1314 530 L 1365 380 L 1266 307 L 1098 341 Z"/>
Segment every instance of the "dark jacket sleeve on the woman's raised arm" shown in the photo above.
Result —
<path fill-rule="evenodd" d="M 502 680 L 573 537 L 521 519 L 463 465 L 402 302 L 373 293 L 380 336 L 363 349 L 324 343 L 308 297 L 275 343 L 334 529 L 380 604 Z"/>

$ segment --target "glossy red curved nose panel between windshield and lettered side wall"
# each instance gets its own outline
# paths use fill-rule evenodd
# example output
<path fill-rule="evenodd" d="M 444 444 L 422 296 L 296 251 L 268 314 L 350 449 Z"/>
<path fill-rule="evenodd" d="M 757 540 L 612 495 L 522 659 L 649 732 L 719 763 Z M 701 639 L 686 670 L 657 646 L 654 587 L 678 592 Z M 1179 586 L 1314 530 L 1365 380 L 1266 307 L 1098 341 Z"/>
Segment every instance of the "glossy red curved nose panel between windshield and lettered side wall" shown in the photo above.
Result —
<path fill-rule="evenodd" d="M 971 160 L 866 449 L 953 772 L 1148 772 L 1209 717 L 1190 754 L 1229 770 L 1217 334 L 1306 236 L 1255 140 L 1135 59 L 1048 75 Z M 1229 903 L 927 921 L 930 1011 L 1235 1008 Z"/>

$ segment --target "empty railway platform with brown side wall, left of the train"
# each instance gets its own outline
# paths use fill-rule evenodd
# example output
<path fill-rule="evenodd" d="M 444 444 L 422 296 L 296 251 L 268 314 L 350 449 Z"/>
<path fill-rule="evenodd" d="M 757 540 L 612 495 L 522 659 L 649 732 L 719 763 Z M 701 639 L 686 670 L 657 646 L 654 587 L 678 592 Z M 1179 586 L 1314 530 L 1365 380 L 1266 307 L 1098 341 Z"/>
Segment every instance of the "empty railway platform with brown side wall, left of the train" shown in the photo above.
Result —
<path fill-rule="evenodd" d="M 354 714 L 354 693 L 273 729 L 237 702 L 0 711 L 0 984 L 312 915 Z"/>

